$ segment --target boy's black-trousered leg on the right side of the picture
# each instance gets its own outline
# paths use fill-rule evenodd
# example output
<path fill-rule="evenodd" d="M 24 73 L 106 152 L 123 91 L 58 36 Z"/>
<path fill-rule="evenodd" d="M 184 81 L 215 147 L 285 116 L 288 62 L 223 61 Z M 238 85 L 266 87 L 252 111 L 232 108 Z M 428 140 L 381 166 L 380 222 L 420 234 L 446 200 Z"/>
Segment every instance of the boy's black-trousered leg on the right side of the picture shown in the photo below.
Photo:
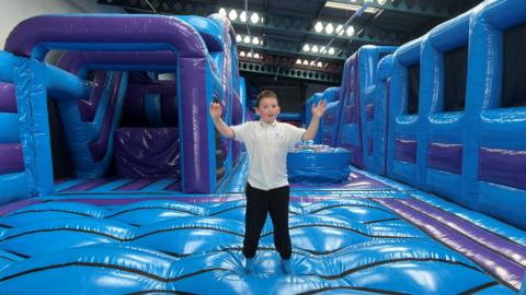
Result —
<path fill-rule="evenodd" d="M 282 259 L 290 259 L 293 248 L 288 233 L 288 201 L 289 187 L 281 187 L 271 190 L 268 213 L 271 213 L 272 225 L 274 226 L 274 246 Z"/>

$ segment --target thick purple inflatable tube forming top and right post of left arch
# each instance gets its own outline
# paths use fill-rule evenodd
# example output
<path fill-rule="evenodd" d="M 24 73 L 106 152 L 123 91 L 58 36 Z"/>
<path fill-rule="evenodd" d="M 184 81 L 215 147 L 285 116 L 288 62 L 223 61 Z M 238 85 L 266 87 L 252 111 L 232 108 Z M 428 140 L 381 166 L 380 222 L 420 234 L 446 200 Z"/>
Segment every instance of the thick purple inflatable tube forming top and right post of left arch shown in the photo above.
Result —
<path fill-rule="evenodd" d="M 89 30 L 87 30 L 89 28 Z M 133 34 L 130 34 L 133 32 Z M 206 44 L 198 32 L 186 22 L 165 15 L 87 14 L 41 15 L 27 19 L 11 31 L 5 50 L 19 56 L 35 54 L 43 59 L 44 43 L 59 45 L 92 44 L 92 50 L 106 50 L 108 45 L 134 45 L 134 50 L 173 50 L 179 58 L 181 90 L 181 142 L 183 156 L 183 191 L 209 192 L 215 173 L 210 169 L 210 146 L 207 97 L 213 83 Z M 141 46 L 146 45 L 146 46 Z M 42 46 L 35 48 L 37 46 Z M 132 47 L 123 47 L 130 49 Z M 39 50 L 35 50 L 39 49 Z M 123 49 L 126 50 L 126 49 Z M 90 146 L 94 156 L 101 146 Z"/>

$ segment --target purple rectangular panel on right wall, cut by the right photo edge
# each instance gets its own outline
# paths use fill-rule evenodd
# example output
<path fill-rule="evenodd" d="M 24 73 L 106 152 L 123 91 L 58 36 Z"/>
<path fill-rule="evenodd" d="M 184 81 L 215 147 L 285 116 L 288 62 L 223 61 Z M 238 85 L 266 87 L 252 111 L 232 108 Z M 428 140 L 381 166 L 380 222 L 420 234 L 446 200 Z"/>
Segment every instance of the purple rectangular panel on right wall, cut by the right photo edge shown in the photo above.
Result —
<path fill-rule="evenodd" d="M 526 190 L 526 150 L 480 148 L 479 179 Z"/>

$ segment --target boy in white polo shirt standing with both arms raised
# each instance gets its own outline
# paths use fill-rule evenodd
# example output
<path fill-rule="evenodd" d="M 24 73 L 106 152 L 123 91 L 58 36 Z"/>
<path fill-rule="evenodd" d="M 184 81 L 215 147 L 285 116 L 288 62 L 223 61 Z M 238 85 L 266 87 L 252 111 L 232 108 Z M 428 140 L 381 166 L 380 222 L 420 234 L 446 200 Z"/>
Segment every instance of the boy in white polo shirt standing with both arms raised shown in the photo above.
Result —
<path fill-rule="evenodd" d="M 312 120 L 307 130 L 277 122 L 279 110 L 277 95 L 272 91 L 263 91 L 258 95 L 255 107 L 255 113 L 261 117 L 260 121 L 229 127 L 221 119 L 221 105 L 218 103 L 210 105 L 210 117 L 217 130 L 226 138 L 244 143 L 249 154 L 243 240 L 247 274 L 254 272 L 254 256 L 267 213 L 274 227 L 274 245 L 282 257 L 282 269 L 285 273 L 290 273 L 287 152 L 290 145 L 315 138 L 320 118 L 325 111 L 325 102 L 312 105 Z"/>

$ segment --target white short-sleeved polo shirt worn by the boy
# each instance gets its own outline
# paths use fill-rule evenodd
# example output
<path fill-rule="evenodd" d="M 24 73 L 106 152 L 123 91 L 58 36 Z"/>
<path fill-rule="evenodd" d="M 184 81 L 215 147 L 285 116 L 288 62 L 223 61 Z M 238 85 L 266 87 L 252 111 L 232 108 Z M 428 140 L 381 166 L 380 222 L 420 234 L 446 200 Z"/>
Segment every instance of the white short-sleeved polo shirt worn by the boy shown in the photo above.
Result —
<path fill-rule="evenodd" d="M 249 121 L 230 127 L 233 139 L 249 153 L 249 184 L 262 190 L 287 186 L 287 152 L 301 141 L 305 129 L 276 122 Z"/>

